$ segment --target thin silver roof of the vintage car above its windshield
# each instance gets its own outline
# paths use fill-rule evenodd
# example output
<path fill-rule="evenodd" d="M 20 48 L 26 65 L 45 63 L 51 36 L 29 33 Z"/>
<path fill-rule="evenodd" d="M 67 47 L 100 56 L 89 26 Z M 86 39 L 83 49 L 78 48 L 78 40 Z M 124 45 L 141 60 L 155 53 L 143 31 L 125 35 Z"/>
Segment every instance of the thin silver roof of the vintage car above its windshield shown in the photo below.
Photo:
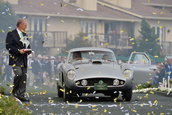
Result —
<path fill-rule="evenodd" d="M 87 50 L 113 52 L 112 50 L 110 50 L 110 49 L 108 49 L 108 48 L 97 48 L 97 47 L 80 47 L 80 48 L 73 48 L 73 49 L 69 50 L 69 52 L 87 51 Z"/>

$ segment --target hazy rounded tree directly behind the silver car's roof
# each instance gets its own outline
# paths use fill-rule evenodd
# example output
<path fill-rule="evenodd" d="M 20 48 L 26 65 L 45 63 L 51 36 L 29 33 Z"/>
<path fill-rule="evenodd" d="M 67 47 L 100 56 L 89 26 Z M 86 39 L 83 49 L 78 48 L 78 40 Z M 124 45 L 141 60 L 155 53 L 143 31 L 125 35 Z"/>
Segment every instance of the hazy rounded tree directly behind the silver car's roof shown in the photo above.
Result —
<path fill-rule="evenodd" d="M 83 33 L 79 33 L 74 40 L 69 40 L 68 43 L 66 44 L 66 48 L 64 51 L 68 51 L 72 48 L 78 48 L 78 47 L 91 47 L 92 44 L 88 39 L 85 39 L 86 35 Z"/>

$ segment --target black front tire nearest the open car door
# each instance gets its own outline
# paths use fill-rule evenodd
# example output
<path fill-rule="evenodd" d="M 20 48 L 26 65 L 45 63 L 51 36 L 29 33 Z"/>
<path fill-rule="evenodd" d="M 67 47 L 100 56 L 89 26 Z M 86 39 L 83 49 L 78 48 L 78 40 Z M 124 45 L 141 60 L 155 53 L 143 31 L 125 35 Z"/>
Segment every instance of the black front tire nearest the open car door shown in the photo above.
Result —
<path fill-rule="evenodd" d="M 131 101 L 132 98 L 132 88 L 122 92 L 122 99 L 124 101 Z"/>

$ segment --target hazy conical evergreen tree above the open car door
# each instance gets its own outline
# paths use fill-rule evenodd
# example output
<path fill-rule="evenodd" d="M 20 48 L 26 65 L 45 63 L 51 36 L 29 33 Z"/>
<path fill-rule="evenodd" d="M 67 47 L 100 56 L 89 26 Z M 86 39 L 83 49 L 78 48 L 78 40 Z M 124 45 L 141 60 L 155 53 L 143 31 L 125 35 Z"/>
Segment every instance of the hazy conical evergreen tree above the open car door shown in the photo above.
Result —
<path fill-rule="evenodd" d="M 148 22 L 143 19 L 141 22 L 141 39 L 136 41 L 133 50 L 146 52 L 149 55 L 160 56 L 160 46 L 158 45 L 158 36 L 154 33 L 154 29 L 150 27 Z"/>

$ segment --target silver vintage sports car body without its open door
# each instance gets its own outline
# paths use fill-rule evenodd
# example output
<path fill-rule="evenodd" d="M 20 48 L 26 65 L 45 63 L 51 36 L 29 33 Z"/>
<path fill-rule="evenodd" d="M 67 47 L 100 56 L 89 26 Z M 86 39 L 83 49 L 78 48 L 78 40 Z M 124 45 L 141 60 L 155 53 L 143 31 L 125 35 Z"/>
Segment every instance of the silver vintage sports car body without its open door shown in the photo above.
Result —
<path fill-rule="evenodd" d="M 119 65 L 110 49 L 71 49 L 58 71 L 58 96 L 64 101 L 93 92 L 116 98 L 121 91 L 123 100 L 130 101 L 132 98 L 133 70 Z"/>

